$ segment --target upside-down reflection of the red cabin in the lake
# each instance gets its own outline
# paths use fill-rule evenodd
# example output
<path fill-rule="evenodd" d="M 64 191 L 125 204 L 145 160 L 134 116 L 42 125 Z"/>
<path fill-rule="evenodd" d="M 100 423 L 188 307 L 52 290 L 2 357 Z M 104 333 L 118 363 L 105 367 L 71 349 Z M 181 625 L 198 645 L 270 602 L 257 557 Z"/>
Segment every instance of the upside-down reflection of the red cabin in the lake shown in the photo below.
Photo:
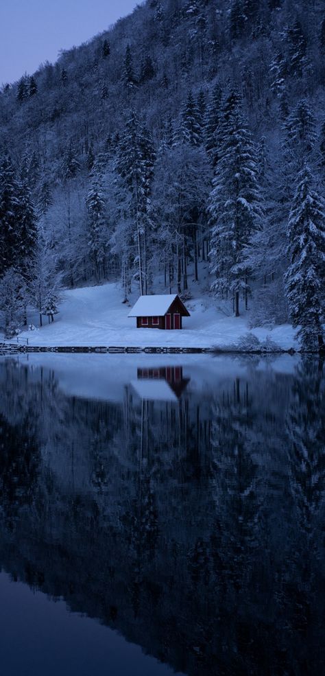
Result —
<path fill-rule="evenodd" d="M 131 385 L 144 401 L 178 401 L 190 380 L 183 377 L 182 366 L 161 366 L 138 369 L 138 380 Z"/>

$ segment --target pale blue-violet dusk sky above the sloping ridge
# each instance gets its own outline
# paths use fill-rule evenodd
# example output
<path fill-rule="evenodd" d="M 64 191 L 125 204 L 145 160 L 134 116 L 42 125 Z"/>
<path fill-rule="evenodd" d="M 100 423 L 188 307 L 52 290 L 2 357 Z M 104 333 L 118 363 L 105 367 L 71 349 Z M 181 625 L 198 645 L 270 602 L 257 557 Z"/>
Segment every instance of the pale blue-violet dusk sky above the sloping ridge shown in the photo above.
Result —
<path fill-rule="evenodd" d="M 80 45 L 139 0 L 0 0 L 0 84 L 54 62 L 60 49 Z"/>

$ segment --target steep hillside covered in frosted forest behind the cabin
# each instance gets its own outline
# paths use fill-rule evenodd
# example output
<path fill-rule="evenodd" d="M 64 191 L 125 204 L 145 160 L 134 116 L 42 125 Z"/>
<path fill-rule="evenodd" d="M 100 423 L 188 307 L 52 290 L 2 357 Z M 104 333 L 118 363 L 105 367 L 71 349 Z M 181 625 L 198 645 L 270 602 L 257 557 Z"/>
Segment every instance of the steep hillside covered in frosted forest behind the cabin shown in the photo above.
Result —
<path fill-rule="evenodd" d="M 205 260 L 216 303 L 322 347 L 324 56 L 322 0 L 149 0 L 4 85 L 7 331 L 62 285 L 189 296 Z"/>

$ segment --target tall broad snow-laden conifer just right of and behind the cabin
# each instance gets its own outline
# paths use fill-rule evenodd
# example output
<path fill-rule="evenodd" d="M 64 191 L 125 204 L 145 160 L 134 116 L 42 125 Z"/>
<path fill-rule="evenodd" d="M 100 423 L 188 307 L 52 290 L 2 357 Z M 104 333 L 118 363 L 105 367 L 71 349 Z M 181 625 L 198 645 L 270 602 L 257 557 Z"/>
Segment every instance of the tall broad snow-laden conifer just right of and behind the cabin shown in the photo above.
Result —
<path fill-rule="evenodd" d="M 250 292 L 246 247 L 261 227 L 263 210 L 256 148 L 236 91 L 224 104 L 217 142 L 219 161 L 208 200 L 212 290 L 221 298 L 232 297 L 239 316 L 240 294 L 247 298 Z"/>

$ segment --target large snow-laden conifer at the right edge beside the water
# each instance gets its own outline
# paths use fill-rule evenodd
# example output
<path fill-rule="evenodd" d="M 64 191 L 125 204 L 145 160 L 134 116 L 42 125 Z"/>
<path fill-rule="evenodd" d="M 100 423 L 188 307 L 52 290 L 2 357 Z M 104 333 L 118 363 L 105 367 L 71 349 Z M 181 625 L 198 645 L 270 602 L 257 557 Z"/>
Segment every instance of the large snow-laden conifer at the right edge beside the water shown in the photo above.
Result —
<path fill-rule="evenodd" d="M 306 350 L 324 349 L 325 202 L 304 166 L 289 214 L 289 268 L 285 275 L 289 311 Z"/>

